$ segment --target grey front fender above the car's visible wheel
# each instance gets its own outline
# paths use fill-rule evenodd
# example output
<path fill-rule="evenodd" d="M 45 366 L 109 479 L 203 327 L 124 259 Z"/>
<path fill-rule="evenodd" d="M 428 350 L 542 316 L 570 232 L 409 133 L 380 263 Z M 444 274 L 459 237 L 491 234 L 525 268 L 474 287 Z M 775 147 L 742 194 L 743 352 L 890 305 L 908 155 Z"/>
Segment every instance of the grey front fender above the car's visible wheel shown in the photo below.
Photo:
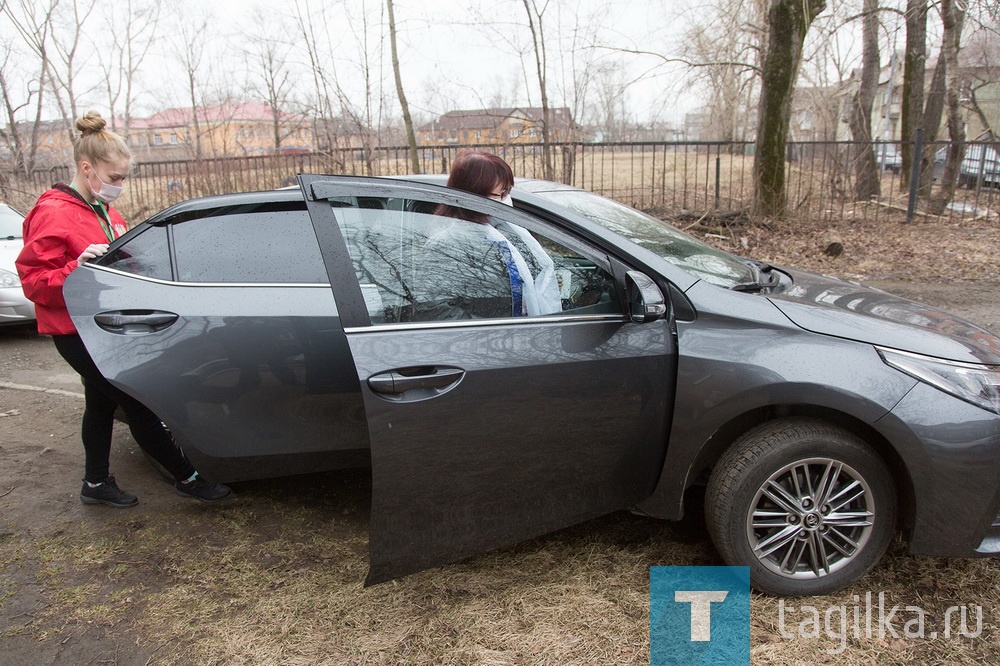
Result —
<path fill-rule="evenodd" d="M 677 323 L 676 400 L 663 469 L 636 507 L 651 516 L 679 520 L 684 491 L 753 425 L 819 414 L 871 427 L 917 383 L 885 365 L 872 345 L 805 331 L 776 316 L 765 299 L 716 290 L 706 307 L 692 292 L 698 318 Z"/>

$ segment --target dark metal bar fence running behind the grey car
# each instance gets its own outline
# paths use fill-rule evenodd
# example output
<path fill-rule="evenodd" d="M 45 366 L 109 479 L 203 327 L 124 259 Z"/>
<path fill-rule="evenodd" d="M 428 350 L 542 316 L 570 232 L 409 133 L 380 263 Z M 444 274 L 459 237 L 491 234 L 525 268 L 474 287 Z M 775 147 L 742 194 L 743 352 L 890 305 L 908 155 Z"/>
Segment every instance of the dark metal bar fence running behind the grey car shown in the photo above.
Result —
<path fill-rule="evenodd" d="M 943 156 L 946 146 L 934 145 L 934 154 Z M 501 155 L 517 176 L 544 176 L 541 144 L 424 147 L 418 150 L 421 170 L 447 173 L 455 157 L 470 149 Z M 985 145 L 978 149 L 984 156 L 993 150 Z M 970 147 L 966 155 L 975 150 Z M 559 143 L 551 147 L 552 179 L 665 217 L 742 211 L 749 209 L 753 200 L 753 151 L 753 143 Z M 859 145 L 851 142 L 789 144 L 785 162 L 789 215 L 813 220 L 898 218 L 906 208 L 908 194 L 902 188 L 898 161 L 889 159 L 890 155 L 898 156 L 898 147 L 886 144 L 877 150 L 881 194 L 867 201 L 854 197 L 853 163 L 858 154 Z M 968 187 L 956 191 L 945 212 L 948 218 L 1000 213 L 1000 190 L 996 189 L 1000 183 L 983 177 L 982 170 L 990 167 L 985 160 L 980 162 L 978 178 L 965 173 L 960 179 Z M 939 160 L 935 160 L 935 170 L 939 175 Z M 405 147 L 137 161 L 117 207 L 126 219 L 138 221 L 192 197 L 293 185 L 299 173 L 384 176 L 411 171 Z M 72 175 L 70 166 L 36 170 L 30 177 L 8 175 L 6 182 L 0 183 L 0 194 L 24 210 L 52 183 L 68 182 Z"/>

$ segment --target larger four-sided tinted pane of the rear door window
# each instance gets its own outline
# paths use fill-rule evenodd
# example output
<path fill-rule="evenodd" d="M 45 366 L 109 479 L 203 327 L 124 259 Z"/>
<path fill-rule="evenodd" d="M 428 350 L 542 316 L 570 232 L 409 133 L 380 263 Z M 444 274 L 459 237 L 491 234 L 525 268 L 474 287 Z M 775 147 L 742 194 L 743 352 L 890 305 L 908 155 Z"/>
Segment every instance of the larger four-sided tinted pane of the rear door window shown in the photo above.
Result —
<path fill-rule="evenodd" d="M 181 282 L 327 283 L 305 210 L 240 212 L 173 225 Z"/>

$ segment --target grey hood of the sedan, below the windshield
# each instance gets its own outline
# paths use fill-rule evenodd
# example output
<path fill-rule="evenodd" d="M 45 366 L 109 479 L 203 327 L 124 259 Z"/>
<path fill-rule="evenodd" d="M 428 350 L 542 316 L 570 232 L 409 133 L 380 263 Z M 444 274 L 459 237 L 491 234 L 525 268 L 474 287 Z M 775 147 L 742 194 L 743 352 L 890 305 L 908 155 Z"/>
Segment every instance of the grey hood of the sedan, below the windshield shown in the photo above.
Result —
<path fill-rule="evenodd" d="M 960 317 L 856 282 L 781 270 L 794 284 L 767 298 L 807 331 L 951 361 L 1000 364 L 1000 338 Z"/>

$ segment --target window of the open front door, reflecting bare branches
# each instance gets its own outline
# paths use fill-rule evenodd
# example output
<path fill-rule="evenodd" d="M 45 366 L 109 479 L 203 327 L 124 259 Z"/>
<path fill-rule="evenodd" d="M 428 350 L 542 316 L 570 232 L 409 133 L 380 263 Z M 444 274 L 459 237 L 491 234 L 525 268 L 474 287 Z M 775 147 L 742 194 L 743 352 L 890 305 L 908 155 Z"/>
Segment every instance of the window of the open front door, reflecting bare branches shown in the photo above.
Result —
<path fill-rule="evenodd" d="M 621 313 L 604 268 L 537 232 L 426 202 L 331 203 L 373 323 Z"/>

